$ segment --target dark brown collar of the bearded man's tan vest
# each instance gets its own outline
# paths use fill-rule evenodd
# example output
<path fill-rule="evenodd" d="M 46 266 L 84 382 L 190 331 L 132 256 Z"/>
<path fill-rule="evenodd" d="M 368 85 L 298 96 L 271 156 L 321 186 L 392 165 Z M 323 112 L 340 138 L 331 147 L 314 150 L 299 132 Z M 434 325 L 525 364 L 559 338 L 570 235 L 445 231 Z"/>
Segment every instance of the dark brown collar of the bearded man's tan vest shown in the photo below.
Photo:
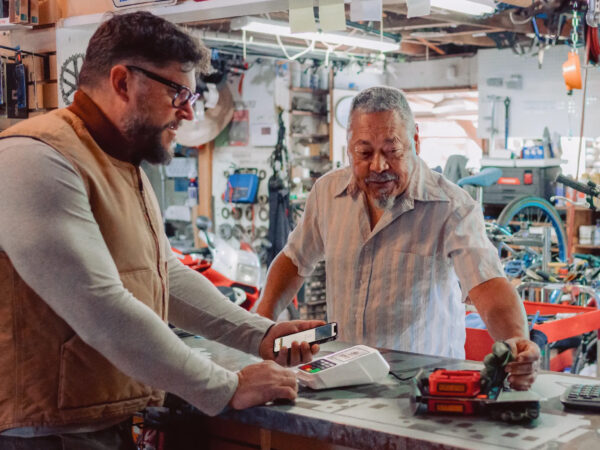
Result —
<path fill-rule="evenodd" d="M 83 121 L 92 138 L 104 152 L 122 160 L 119 156 L 121 149 L 129 146 L 127 139 L 85 92 L 76 91 L 73 103 L 67 109 Z"/>

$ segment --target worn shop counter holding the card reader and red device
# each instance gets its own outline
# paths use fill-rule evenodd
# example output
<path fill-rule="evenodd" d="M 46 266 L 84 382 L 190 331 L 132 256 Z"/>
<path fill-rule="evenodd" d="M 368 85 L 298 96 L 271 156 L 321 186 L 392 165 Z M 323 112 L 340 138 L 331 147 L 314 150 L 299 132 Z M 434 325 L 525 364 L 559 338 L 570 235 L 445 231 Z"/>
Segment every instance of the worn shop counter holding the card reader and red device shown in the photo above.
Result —
<path fill-rule="evenodd" d="M 237 350 L 198 339 L 184 340 L 224 367 L 239 370 L 258 362 Z M 321 354 L 349 347 L 330 342 Z M 410 377 L 420 368 L 478 369 L 480 363 L 381 351 L 391 370 Z M 293 404 L 228 410 L 211 418 L 195 415 L 197 447 L 211 449 L 588 449 L 600 447 L 600 413 L 565 411 L 559 396 L 570 384 L 598 379 L 543 372 L 533 390 L 542 402 L 530 425 L 509 425 L 485 417 L 419 415 L 409 405 L 410 387 L 388 375 L 380 384 L 311 391 L 300 388 Z M 195 445 L 191 443 L 191 445 Z"/>

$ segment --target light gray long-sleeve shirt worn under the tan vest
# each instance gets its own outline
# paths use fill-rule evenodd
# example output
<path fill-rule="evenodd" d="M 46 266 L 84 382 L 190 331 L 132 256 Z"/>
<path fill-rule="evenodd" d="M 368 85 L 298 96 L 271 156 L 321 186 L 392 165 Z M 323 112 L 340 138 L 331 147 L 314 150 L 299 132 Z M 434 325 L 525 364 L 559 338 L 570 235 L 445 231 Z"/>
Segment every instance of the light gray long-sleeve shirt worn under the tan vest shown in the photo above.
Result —
<path fill-rule="evenodd" d="M 33 139 L 0 141 L 0 251 L 88 345 L 127 375 L 211 415 L 231 399 L 237 375 L 194 353 L 123 287 L 81 177 Z M 172 253 L 168 268 L 169 322 L 258 354 L 271 321 L 233 305 Z"/>

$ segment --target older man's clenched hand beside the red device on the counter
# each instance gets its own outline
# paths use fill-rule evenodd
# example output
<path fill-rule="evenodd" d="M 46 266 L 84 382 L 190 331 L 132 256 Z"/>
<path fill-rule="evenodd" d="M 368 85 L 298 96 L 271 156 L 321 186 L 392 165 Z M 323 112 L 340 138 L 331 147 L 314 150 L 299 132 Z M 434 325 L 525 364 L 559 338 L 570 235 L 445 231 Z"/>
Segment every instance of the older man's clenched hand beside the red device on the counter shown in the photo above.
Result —
<path fill-rule="evenodd" d="M 528 390 L 537 376 L 540 366 L 540 348 L 535 342 L 523 338 L 511 338 L 506 342 L 515 357 L 514 361 L 506 365 L 506 372 L 510 375 L 510 387 L 518 391 Z"/>

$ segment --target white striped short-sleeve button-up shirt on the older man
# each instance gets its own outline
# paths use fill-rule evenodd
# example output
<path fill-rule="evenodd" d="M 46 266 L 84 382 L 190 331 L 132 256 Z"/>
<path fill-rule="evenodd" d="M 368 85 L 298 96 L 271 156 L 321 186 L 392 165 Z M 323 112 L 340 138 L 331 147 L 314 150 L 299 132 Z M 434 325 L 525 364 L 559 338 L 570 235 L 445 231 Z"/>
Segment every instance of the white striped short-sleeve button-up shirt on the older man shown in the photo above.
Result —
<path fill-rule="evenodd" d="M 468 292 L 504 271 L 481 207 L 420 162 L 373 230 L 351 168 L 321 177 L 284 253 L 309 276 L 325 260 L 327 318 L 355 344 L 464 358 Z"/>

